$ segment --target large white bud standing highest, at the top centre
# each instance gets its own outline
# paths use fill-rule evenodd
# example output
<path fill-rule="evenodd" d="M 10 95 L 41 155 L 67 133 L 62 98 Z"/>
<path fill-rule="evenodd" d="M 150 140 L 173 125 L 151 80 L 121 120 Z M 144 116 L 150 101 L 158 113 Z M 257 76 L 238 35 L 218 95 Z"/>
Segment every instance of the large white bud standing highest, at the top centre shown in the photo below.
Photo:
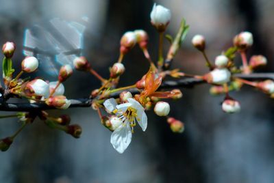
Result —
<path fill-rule="evenodd" d="M 166 26 L 169 25 L 171 20 L 171 11 L 164 8 L 162 5 L 156 5 L 154 3 L 152 11 L 150 13 L 152 25 L 160 32 L 166 30 Z"/>

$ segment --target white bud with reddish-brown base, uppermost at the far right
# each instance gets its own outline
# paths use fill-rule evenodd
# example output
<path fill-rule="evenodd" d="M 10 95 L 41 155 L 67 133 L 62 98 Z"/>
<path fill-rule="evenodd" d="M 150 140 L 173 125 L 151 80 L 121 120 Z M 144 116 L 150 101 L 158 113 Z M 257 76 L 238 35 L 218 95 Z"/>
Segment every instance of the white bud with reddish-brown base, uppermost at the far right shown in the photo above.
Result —
<path fill-rule="evenodd" d="M 252 33 L 245 31 L 241 32 L 234 37 L 234 46 L 237 46 L 240 51 L 245 51 L 253 44 Z"/>

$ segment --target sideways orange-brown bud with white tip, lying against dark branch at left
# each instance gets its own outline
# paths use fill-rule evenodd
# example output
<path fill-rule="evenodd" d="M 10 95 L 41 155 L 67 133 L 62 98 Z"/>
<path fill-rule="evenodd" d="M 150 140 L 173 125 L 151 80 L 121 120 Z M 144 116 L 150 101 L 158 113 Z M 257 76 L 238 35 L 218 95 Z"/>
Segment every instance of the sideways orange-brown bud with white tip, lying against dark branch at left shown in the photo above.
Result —
<path fill-rule="evenodd" d="M 46 104 L 57 109 L 68 109 L 71 105 L 71 100 L 66 99 L 65 96 L 51 96 L 47 98 Z"/>

